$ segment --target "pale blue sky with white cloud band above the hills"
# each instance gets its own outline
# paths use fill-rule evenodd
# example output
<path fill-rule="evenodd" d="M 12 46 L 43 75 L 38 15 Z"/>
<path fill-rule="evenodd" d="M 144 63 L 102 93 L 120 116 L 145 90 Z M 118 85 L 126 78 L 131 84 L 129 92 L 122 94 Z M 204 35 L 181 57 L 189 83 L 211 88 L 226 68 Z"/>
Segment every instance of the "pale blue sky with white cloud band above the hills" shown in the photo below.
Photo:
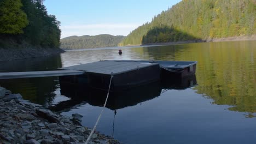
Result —
<path fill-rule="evenodd" d="M 61 22 L 61 38 L 71 35 L 127 35 L 181 0 L 45 0 Z"/>

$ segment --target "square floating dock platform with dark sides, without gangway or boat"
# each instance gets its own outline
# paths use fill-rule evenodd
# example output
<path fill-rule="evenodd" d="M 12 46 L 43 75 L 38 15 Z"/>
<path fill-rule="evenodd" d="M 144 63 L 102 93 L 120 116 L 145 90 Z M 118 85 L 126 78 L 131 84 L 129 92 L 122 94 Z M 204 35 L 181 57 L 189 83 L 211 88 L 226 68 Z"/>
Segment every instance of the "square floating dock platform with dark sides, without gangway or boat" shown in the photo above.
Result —
<path fill-rule="evenodd" d="M 99 89 L 108 89 L 111 77 L 112 90 L 131 88 L 160 80 L 158 63 L 99 61 L 61 68 L 61 70 L 85 71 L 86 77 L 60 76 L 60 82 L 80 81 L 79 83 L 88 83 L 90 87 Z"/>

